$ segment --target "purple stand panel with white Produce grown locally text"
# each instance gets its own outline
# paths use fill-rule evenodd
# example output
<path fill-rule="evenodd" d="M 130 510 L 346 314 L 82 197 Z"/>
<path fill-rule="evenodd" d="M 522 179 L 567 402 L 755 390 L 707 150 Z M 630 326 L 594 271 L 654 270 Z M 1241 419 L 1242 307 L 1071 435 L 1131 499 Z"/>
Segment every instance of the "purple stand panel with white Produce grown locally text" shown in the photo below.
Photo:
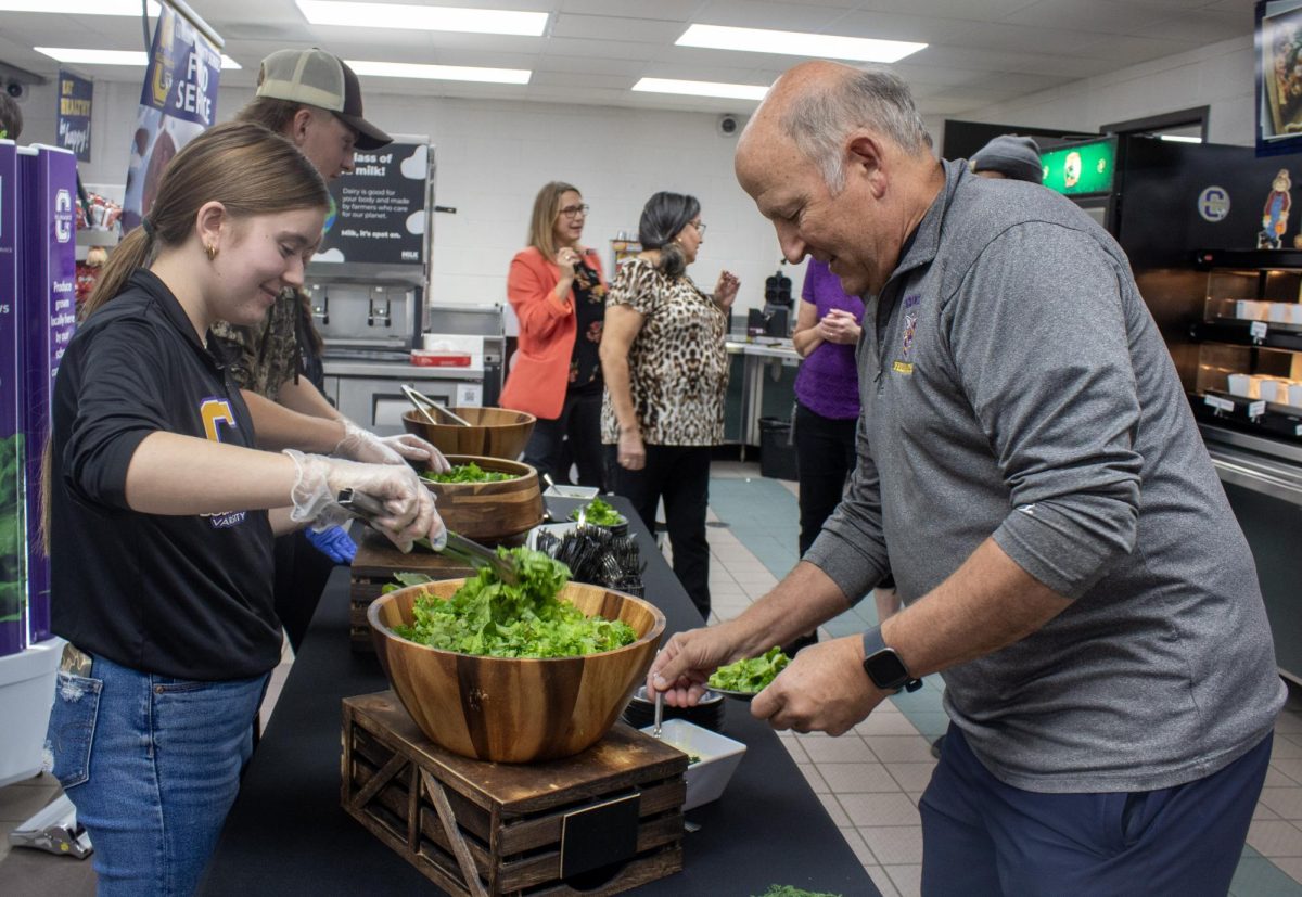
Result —
<path fill-rule="evenodd" d="M 35 145 L 18 151 L 21 187 L 18 259 L 20 404 L 26 454 L 27 641 L 49 638 L 49 559 L 39 539 L 40 461 L 49 439 L 49 409 L 59 362 L 77 325 L 77 158 Z"/>

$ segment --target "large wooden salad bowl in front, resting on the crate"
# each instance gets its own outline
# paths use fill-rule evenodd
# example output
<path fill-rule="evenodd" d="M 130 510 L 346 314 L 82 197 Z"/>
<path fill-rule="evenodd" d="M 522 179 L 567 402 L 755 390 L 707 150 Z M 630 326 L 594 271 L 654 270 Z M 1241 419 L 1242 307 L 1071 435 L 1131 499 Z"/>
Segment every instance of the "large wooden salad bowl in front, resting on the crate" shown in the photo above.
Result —
<path fill-rule="evenodd" d="M 596 743 L 646 677 L 664 614 L 631 595 L 572 582 L 561 588 L 561 600 L 587 616 L 622 620 L 638 639 L 582 657 L 483 657 L 417 644 L 393 631 L 411 622 L 418 596 L 448 598 L 464 582 L 400 588 L 366 613 L 384 674 L 421 730 L 454 754 L 501 763 L 569 756 Z"/>

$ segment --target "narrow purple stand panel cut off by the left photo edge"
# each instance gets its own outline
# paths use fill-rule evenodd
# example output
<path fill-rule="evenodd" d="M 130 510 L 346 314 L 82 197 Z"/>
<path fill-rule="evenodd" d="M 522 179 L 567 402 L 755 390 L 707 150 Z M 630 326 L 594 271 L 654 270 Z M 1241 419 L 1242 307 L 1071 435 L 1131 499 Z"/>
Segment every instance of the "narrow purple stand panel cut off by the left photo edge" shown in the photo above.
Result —
<path fill-rule="evenodd" d="M 27 641 L 17 224 L 18 156 L 13 141 L 0 141 L 0 656 Z"/>

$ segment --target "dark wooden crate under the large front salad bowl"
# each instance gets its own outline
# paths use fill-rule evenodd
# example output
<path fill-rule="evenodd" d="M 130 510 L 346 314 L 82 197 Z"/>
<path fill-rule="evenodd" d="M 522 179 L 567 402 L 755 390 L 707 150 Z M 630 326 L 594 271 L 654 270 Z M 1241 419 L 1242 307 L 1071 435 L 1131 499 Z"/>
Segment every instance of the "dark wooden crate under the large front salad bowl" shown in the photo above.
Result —
<path fill-rule="evenodd" d="M 484 763 L 430 742 L 392 691 L 344 699 L 344 810 L 452 894 L 615 894 L 677 872 L 686 768 L 624 724 L 573 758 Z M 566 858 L 600 850 L 582 838 L 609 836 L 581 825 L 599 812 L 635 825 L 631 855 L 562 879 L 562 862 L 585 862 Z"/>

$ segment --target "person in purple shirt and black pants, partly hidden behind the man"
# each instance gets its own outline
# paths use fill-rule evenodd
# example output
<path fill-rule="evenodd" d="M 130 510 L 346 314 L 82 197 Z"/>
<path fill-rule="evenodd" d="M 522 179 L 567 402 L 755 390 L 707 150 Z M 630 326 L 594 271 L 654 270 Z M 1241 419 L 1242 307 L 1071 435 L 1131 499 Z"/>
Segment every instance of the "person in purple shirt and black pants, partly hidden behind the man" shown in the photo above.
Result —
<path fill-rule="evenodd" d="M 854 346 L 859 341 L 863 299 L 846 296 L 827 264 L 810 258 L 792 341 L 805 359 L 796 375 L 796 461 L 801 483 L 803 556 L 823 522 L 836 509 L 854 470 L 854 434 L 859 421 L 859 378 Z M 875 591 L 878 616 L 896 609 L 894 579 Z M 806 635 L 786 646 L 794 654 L 818 641 Z"/>

